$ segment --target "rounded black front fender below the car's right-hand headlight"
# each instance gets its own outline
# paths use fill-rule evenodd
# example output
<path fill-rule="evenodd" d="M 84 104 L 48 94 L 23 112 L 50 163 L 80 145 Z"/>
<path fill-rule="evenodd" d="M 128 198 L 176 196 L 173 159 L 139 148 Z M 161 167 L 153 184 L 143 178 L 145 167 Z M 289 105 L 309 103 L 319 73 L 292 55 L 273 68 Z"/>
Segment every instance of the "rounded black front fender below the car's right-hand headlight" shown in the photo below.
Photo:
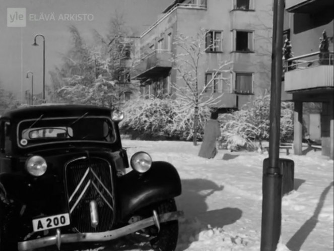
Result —
<path fill-rule="evenodd" d="M 181 194 L 181 180 L 176 168 L 165 161 L 155 161 L 146 173 L 137 171 L 120 177 L 119 200 L 122 218 L 159 201 Z"/>

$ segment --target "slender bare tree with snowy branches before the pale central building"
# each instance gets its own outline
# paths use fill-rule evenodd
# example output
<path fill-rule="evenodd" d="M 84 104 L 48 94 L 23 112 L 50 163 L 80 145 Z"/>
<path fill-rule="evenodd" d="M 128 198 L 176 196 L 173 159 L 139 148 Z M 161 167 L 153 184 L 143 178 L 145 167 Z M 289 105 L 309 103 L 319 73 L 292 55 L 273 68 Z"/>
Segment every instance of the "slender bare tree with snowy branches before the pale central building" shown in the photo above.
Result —
<path fill-rule="evenodd" d="M 223 98 L 223 93 L 214 93 L 217 84 L 230 86 L 230 61 L 219 61 L 216 69 L 209 69 L 207 50 L 217 46 L 221 41 L 215 38 L 209 39 L 209 32 L 199 29 L 195 36 L 176 36 L 174 44 L 176 53 L 173 55 L 173 68 L 177 72 L 178 80 L 183 85 L 173 84 L 178 99 L 185 101 L 184 107 L 179 111 L 180 119 L 184 122 L 189 121 L 184 116 L 184 111 L 193 111 L 193 144 L 197 143 L 198 114 L 200 109 L 215 107 Z M 206 66 L 206 71 L 203 71 Z M 200 83 L 206 72 L 211 73 L 211 78 L 205 83 Z M 180 123 L 175 123 L 180 124 Z M 182 123 L 181 123 L 182 124 Z"/>

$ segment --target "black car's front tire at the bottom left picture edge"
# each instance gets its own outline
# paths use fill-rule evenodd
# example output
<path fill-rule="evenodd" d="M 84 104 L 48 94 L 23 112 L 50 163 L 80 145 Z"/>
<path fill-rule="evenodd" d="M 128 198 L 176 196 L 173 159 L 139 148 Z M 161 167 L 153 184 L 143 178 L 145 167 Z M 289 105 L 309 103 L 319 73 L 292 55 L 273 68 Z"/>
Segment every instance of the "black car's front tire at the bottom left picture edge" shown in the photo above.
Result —
<path fill-rule="evenodd" d="M 9 206 L 0 201 L 0 251 L 17 251 L 17 241 L 10 229 Z"/>

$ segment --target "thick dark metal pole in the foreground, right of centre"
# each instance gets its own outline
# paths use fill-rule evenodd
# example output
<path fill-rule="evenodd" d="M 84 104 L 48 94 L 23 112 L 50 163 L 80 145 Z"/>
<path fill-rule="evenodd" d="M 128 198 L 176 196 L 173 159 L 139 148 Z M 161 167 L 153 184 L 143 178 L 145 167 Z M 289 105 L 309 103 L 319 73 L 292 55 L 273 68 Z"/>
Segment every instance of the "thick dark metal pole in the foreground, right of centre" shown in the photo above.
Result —
<path fill-rule="evenodd" d="M 279 168 L 284 0 L 274 0 L 269 166 L 262 178 L 261 251 L 275 251 L 281 234 L 282 175 Z"/>

